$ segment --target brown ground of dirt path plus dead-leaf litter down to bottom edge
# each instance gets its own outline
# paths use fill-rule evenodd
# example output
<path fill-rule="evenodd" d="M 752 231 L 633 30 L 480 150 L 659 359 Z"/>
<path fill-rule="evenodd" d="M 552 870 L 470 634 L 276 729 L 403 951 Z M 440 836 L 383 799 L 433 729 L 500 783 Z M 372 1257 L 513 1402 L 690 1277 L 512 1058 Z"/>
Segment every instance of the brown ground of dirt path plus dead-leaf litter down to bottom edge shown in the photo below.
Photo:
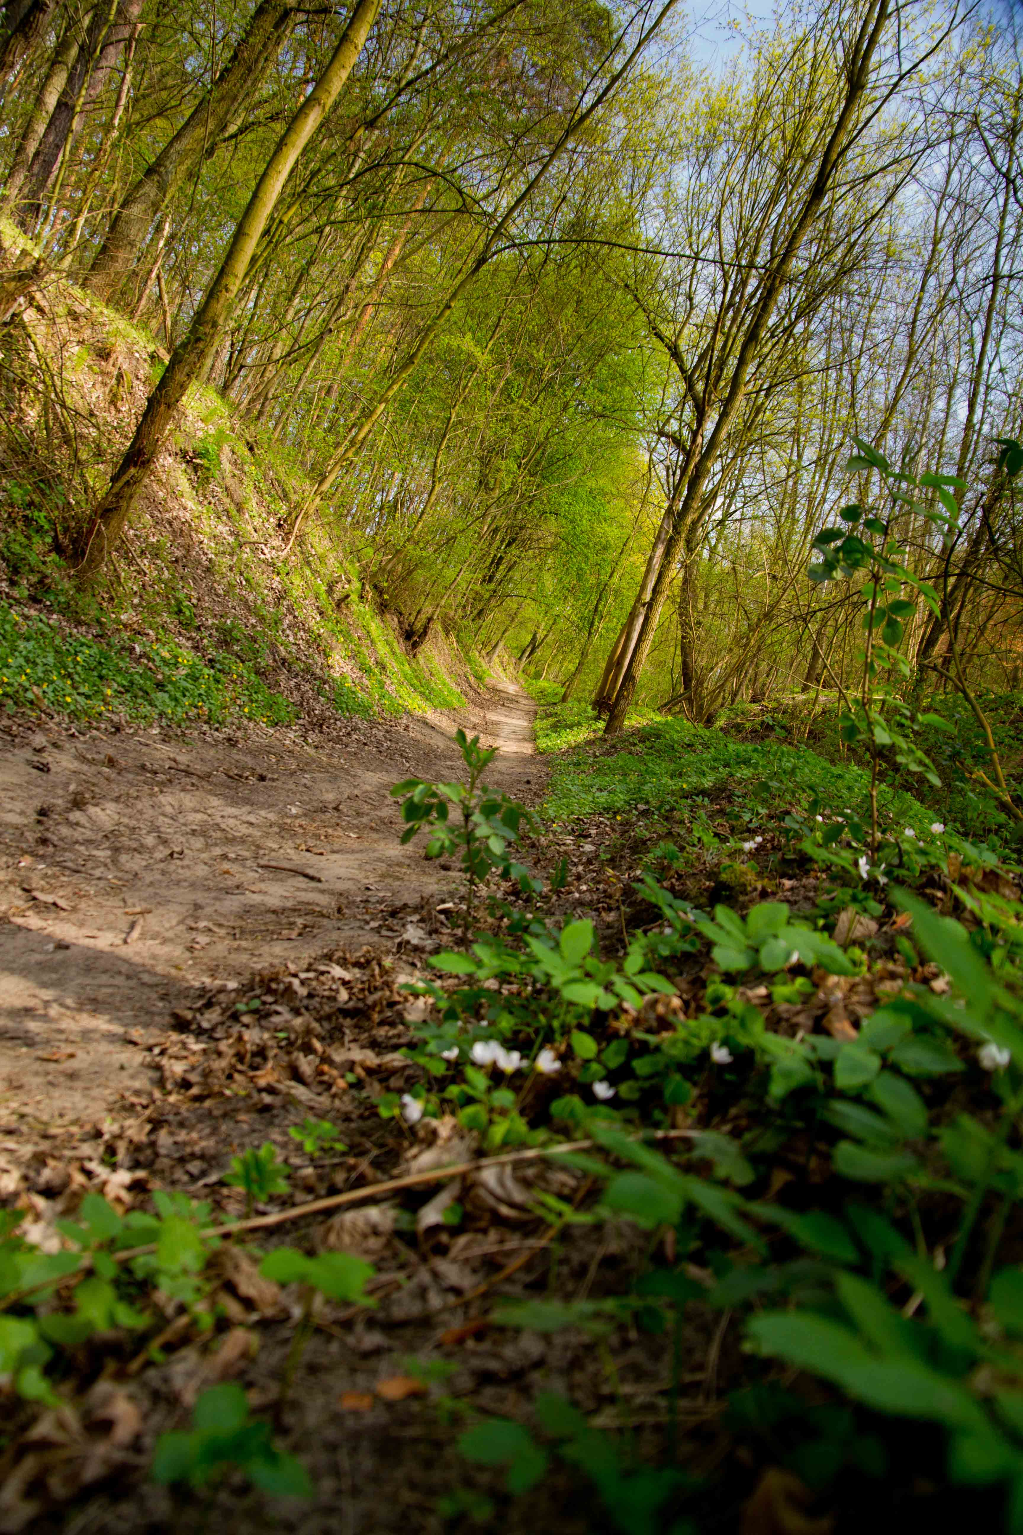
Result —
<path fill-rule="evenodd" d="M 538 800 L 544 772 L 532 755 L 532 715 L 528 697 L 502 686 L 457 718 L 353 721 L 340 743 L 290 732 L 242 740 L 8 731 L 0 1196 L 6 1168 L 6 1193 L 34 1213 L 41 1240 L 86 1187 L 118 1208 L 170 1187 L 212 1199 L 221 1216 L 241 1214 L 241 1196 L 222 1183 L 225 1165 L 267 1139 L 290 1157 L 291 1190 L 284 1205 L 259 1213 L 479 1156 L 477 1137 L 449 1117 L 436 1127 L 434 1147 L 428 1125 L 410 1133 L 374 1107 L 383 1088 L 414 1078 L 394 1053 L 413 1039 L 400 982 L 422 973 L 425 955 L 443 942 L 443 909 L 459 884 L 456 870 L 425 861 L 416 841 L 399 846 L 388 791 L 402 777 L 454 777 L 451 732 L 465 725 L 500 748 L 489 781 Z M 250 1030 L 236 1001 L 253 989 L 265 1027 Z M 348 1090 L 324 1062 L 354 1067 L 367 1091 Z M 288 1127 L 304 1111 L 330 1116 L 345 1156 L 298 1165 Z M 328 1308 L 287 1401 L 296 1286 L 279 1292 L 258 1279 L 258 1254 L 225 1248 L 213 1335 L 172 1323 L 166 1362 L 153 1365 L 144 1351 L 126 1363 L 130 1339 L 129 1354 L 124 1340 L 110 1340 L 106 1366 L 92 1362 L 100 1378 L 83 1405 L 35 1428 L 25 1408 L 9 1424 L 0 1529 L 465 1529 L 465 1518 L 452 1526 L 443 1517 L 443 1498 L 494 1497 L 502 1484 L 500 1474 L 495 1489 L 494 1474 L 456 1449 L 479 1414 L 531 1421 L 537 1392 L 557 1391 L 617 1423 L 615 1388 L 592 1337 L 500 1329 L 488 1319 L 495 1296 L 529 1296 L 535 1286 L 543 1294 L 555 1269 L 558 1291 L 613 1292 L 641 1259 L 632 1236 L 613 1226 L 569 1228 L 552 1245 L 532 1208 L 537 1182 L 569 1197 L 584 1193 L 580 1174 L 500 1168 L 452 1188 L 465 1202 L 460 1230 L 423 1225 L 423 1207 L 439 1193 L 426 1187 L 413 1199 L 417 1231 L 405 1240 L 393 1200 L 261 1233 L 268 1239 L 261 1245 L 356 1251 L 377 1271 L 376 1309 Z M 701 1328 L 687 1340 L 687 1378 L 698 1386 L 709 1343 Z M 715 1371 L 716 1358 L 715 1351 Z M 633 1432 L 649 1423 L 663 1432 L 663 1340 L 632 1337 L 618 1366 L 632 1382 Z M 241 1475 L 201 1494 L 169 1492 L 147 1477 L 156 1437 L 187 1426 L 196 1395 L 224 1378 L 245 1386 L 278 1443 L 302 1458 L 311 1501 L 267 1497 Z M 716 1403 L 696 1406 L 701 1449 L 712 1458 L 716 1417 Z M 83 1446 L 94 1446 L 94 1460 Z M 583 1535 L 595 1518 L 578 1480 L 552 1466 L 526 1498 L 498 1492 L 483 1523 L 506 1535 Z"/>

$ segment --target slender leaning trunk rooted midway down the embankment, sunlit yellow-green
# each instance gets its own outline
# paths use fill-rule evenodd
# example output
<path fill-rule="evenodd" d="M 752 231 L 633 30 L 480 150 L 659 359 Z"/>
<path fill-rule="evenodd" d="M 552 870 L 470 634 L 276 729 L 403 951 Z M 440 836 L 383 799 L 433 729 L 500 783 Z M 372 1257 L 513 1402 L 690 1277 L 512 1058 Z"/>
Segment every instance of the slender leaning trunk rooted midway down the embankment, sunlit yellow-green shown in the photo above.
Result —
<path fill-rule="evenodd" d="M 101 568 L 107 550 L 117 543 L 124 531 L 135 497 L 170 434 L 189 385 L 201 378 L 216 352 L 238 289 L 245 278 L 278 198 L 299 155 L 319 129 L 351 74 L 379 6 L 380 0 L 359 0 L 319 83 L 288 123 L 259 177 L 202 307 L 192 321 L 187 335 L 175 347 L 156 388 L 146 402 L 143 419 L 127 453 L 121 459 L 106 494 L 94 508 L 78 566 L 81 579 L 87 580 Z"/>

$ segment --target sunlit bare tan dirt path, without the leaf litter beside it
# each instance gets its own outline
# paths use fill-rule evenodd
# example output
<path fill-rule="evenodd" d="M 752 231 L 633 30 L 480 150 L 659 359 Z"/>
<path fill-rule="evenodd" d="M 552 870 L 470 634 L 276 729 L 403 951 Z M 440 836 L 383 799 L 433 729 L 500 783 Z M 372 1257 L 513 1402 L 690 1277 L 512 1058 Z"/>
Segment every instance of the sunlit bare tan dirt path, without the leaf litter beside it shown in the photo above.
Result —
<path fill-rule="evenodd" d="M 382 927 L 420 946 L 416 916 L 456 875 L 399 846 L 390 786 L 457 777 L 462 725 L 500 748 L 489 780 L 535 801 L 534 714 L 503 683 L 433 720 L 353 720 L 330 744 L 0 729 L 0 1134 L 101 1121 L 199 990 Z"/>

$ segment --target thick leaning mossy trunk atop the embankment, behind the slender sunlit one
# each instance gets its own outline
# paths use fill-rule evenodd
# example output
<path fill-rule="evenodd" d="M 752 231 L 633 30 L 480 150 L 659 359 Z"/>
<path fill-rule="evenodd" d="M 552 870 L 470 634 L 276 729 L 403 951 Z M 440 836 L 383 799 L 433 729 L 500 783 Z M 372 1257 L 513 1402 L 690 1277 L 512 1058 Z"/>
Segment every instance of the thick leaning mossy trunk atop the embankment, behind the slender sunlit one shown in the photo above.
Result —
<path fill-rule="evenodd" d="M 252 100 L 294 26 L 294 0 L 261 0 L 209 92 L 126 192 L 86 287 L 107 302 L 121 292 L 149 230 L 186 178 L 213 154 L 239 106 Z"/>

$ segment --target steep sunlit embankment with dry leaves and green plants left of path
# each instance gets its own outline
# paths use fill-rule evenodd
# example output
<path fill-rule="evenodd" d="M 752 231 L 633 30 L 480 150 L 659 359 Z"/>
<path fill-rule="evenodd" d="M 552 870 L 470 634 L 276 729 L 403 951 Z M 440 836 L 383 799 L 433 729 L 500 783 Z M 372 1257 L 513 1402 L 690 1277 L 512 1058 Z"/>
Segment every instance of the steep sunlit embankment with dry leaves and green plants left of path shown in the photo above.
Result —
<path fill-rule="evenodd" d="M 8 253 L 20 238 L 0 223 Z M 212 388 L 190 396 L 101 597 L 75 591 L 67 554 L 166 353 L 49 275 L 5 327 L 0 361 L 0 703 L 322 729 L 457 708 L 482 685 L 442 632 L 411 654 L 362 588 L 347 508 L 288 548 L 301 467 Z"/>

